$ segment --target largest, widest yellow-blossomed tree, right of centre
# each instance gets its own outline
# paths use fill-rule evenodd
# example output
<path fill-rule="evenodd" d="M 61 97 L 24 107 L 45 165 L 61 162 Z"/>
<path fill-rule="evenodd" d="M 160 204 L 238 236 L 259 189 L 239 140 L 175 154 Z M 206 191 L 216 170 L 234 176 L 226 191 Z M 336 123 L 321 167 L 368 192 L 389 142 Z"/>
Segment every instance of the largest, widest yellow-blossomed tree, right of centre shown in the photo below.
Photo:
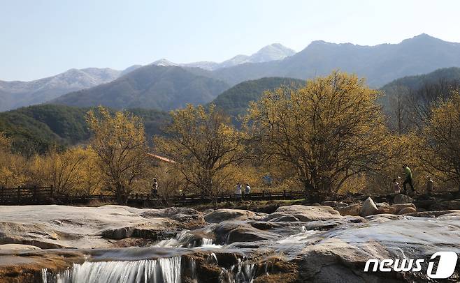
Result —
<path fill-rule="evenodd" d="M 388 159 L 378 95 L 363 79 L 332 72 L 301 89 L 266 91 L 245 124 L 255 148 L 289 164 L 310 197 L 323 199 Z"/>

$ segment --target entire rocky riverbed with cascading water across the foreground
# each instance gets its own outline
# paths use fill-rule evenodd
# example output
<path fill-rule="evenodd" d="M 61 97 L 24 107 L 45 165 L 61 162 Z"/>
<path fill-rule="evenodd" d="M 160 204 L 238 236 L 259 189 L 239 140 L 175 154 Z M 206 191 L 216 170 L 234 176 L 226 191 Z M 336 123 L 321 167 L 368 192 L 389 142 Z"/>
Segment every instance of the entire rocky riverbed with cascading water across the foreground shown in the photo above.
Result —
<path fill-rule="evenodd" d="M 431 255 L 460 253 L 460 210 L 414 202 L 272 213 L 0 206 L 0 282 L 433 282 Z M 365 273 L 368 259 L 424 262 L 421 271 Z M 448 282 L 460 280 L 459 264 Z"/>

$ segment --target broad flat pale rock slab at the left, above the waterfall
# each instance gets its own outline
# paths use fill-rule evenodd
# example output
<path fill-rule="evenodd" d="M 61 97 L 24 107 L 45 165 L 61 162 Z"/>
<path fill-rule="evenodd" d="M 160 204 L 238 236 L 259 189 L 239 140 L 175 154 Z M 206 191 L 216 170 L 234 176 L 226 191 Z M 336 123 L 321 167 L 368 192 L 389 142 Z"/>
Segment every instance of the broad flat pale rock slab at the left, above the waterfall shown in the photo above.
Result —
<path fill-rule="evenodd" d="M 136 228 L 160 231 L 183 226 L 181 222 L 161 217 L 166 215 L 142 216 L 157 211 L 128 206 L 0 206 L 0 244 L 44 249 L 110 247 L 113 237 L 107 237 L 107 231 Z M 123 236 L 120 232 L 117 235 Z"/>

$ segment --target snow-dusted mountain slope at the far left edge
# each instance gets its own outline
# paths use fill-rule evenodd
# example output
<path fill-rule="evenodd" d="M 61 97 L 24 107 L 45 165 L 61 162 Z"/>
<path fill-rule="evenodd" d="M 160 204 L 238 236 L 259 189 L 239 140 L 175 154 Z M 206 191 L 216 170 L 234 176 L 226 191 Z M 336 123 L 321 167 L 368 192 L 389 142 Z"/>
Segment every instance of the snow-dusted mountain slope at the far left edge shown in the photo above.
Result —
<path fill-rule="evenodd" d="M 40 104 L 71 91 L 87 89 L 111 82 L 139 66 L 125 70 L 110 68 L 71 69 L 59 75 L 31 82 L 0 81 L 0 112 L 22 106 Z"/>

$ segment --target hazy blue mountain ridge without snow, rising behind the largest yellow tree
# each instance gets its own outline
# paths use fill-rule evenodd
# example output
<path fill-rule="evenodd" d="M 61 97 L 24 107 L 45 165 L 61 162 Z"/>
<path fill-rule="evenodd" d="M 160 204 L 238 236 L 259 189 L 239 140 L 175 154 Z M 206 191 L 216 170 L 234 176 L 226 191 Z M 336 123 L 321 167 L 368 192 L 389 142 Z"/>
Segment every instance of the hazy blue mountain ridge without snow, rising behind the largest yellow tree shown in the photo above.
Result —
<path fill-rule="evenodd" d="M 380 87 L 398 77 L 454 66 L 460 66 L 460 43 L 421 34 L 398 44 L 375 46 L 314 41 L 281 61 L 247 63 L 213 73 L 217 79 L 234 85 L 261 77 L 306 79 L 342 70 L 366 78 L 370 86 Z"/>

